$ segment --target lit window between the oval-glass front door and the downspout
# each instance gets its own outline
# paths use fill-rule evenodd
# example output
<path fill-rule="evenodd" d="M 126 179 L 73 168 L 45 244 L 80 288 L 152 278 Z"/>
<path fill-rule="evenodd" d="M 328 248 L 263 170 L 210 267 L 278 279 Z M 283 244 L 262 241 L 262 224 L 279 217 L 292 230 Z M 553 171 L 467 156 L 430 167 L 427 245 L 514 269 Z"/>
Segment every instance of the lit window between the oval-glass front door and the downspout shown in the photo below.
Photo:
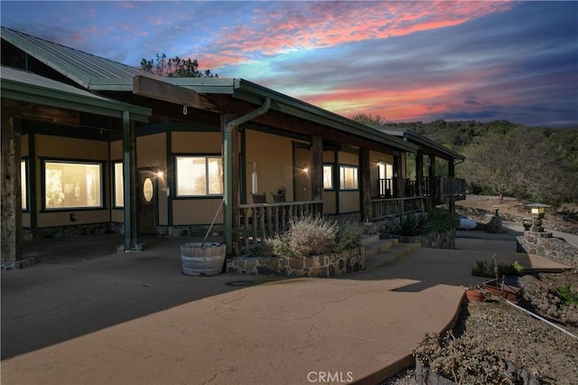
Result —
<path fill-rule="evenodd" d="M 177 156 L 177 196 L 223 193 L 222 161 L 216 156 Z"/>

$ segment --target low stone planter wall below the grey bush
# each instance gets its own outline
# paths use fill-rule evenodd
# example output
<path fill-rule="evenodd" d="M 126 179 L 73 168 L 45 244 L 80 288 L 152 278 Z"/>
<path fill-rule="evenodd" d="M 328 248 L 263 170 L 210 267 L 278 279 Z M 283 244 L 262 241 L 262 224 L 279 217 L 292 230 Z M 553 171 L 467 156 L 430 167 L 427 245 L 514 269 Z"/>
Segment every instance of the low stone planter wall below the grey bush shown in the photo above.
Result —
<path fill-rule="evenodd" d="M 365 248 L 301 258 L 240 256 L 227 259 L 226 273 L 282 277 L 337 277 L 365 270 Z"/>

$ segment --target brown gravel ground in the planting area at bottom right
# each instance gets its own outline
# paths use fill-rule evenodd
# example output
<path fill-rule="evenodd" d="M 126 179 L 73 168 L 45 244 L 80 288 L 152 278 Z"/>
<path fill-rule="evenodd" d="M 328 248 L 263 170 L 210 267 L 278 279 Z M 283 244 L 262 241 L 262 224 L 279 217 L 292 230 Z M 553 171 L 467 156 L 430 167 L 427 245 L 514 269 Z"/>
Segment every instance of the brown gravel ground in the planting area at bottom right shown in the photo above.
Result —
<path fill-rule="evenodd" d="M 568 282 L 578 288 L 578 274 L 545 274 L 546 283 Z M 578 336 L 578 327 L 559 324 Z M 456 336 L 473 334 L 481 337 L 499 355 L 534 374 L 541 384 L 575 385 L 578 383 L 578 338 L 536 319 L 526 312 L 499 300 L 467 303 L 453 328 Z M 415 372 L 403 371 L 384 381 L 383 385 L 415 384 Z"/>

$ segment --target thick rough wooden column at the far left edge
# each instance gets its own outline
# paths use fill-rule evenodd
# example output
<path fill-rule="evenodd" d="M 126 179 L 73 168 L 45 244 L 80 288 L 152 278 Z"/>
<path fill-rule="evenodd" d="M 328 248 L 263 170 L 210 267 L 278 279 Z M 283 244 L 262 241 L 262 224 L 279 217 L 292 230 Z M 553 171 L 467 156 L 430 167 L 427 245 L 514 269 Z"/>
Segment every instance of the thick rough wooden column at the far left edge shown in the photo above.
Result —
<path fill-rule="evenodd" d="M 22 259 L 22 191 L 20 184 L 20 111 L 2 106 L 2 264 Z"/>

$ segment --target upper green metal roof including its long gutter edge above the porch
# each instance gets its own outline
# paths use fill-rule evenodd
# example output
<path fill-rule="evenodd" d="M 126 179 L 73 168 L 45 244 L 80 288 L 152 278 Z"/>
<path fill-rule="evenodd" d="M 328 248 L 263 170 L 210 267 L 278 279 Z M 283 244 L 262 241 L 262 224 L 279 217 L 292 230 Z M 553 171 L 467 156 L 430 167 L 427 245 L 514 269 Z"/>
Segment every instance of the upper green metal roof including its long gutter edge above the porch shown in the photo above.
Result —
<path fill-rule="evenodd" d="M 110 61 L 90 53 L 81 52 L 64 45 L 49 42 L 26 33 L 2 27 L 2 39 L 33 56 L 38 61 L 59 71 L 70 80 L 89 90 L 133 91 L 133 78 L 137 75 L 162 80 L 198 93 L 227 94 L 260 106 L 264 99 L 271 99 L 271 109 L 300 117 L 321 125 L 332 127 L 351 135 L 374 140 L 408 152 L 416 152 L 418 146 L 388 136 L 372 127 L 360 124 L 323 108 L 286 96 L 273 89 L 259 86 L 242 79 L 215 78 L 163 78 L 150 72 L 135 69 L 117 61 Z"/>

